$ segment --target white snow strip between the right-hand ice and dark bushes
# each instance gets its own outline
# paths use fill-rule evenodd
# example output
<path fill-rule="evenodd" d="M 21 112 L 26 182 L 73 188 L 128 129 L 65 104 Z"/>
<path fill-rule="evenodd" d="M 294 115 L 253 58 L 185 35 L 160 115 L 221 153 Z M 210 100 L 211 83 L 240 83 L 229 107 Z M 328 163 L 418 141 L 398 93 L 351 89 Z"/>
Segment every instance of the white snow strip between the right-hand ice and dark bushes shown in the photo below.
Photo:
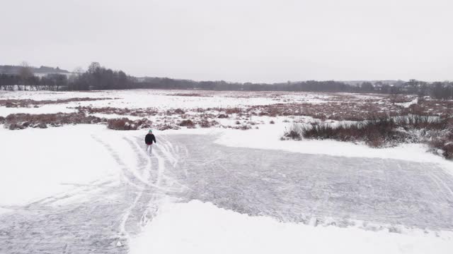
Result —
<path fill-rule="evenodd" d="M 402 159 L 410 162 L 428 162 L 440 164 L 449 174 L 453 174 L 453 162 L 429 152 L 423 144 L 402 144 L 397 147 L 372 148 L 367 145 L 336 140 L 285 140 L 282 137 L 285 128 L 292 123 L 276 122 L 262 125 L 259 129 L 239 131 L 224 129 L 217 133 L 215 143 L 229 147 L 248 147 L 268 150 L 284 150 L 309 155 L 331 155 L 342 157 L 369 157 L 382 159 Z"/>

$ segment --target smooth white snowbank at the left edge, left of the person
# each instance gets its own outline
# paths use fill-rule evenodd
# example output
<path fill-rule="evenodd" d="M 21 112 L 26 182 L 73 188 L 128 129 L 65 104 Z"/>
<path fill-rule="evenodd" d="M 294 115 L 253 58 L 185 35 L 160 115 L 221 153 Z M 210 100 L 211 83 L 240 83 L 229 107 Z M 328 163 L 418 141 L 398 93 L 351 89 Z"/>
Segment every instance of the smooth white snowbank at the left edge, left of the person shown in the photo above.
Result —
<path fill-rule="evenodd" d="M 118 165 L 92 137 L 103 131 L 100 125 L 22 131 L 0 126 L 0 205 L 25 205 L 99 179 L 117 179 Z"/>

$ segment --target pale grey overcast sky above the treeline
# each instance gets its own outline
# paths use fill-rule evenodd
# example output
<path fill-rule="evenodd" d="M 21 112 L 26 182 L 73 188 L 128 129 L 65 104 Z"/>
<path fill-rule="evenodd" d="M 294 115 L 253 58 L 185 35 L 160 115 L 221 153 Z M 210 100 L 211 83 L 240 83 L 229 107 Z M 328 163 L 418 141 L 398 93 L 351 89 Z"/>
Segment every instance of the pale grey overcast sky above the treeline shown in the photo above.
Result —
<path fill-rule="evenodd" d="M 452 0 L 0 0 L 0 64 L 194 80 L 453 80 Z"/>

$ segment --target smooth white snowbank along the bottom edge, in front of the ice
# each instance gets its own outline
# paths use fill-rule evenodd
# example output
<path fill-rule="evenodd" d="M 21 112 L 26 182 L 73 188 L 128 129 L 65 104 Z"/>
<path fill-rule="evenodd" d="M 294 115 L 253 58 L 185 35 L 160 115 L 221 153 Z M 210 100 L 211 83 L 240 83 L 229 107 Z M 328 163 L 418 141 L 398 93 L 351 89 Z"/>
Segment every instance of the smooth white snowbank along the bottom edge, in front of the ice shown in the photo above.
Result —
<path fill-rule="evenodd" d="M 451 253 L 450 234 L 396 234 L 337 226 L 280 223 L 193 200 L 166 204 L 131 240 L 149 253 Z"/>

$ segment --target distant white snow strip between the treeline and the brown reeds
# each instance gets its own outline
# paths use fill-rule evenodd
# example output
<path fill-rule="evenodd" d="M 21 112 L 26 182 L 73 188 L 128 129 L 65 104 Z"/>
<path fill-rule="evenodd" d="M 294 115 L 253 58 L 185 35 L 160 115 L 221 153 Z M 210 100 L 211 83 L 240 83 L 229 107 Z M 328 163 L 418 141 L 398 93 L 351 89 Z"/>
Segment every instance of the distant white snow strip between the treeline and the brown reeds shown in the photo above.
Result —
<path fill-rule="evenodd" d="M 200 96 L 184 96 L 184 95 Z M 356 99 L 379 99 L 369 95 L 351 95 Z M 108 90 L 92 92 L 49 92 L 49 91 L 0 91 L 0 99 L 69 99 L 74 97 L 111 98 L 101 101 L 70 102 L 64 105 L 42 105 L 39 108 L 15 109 L 0 107 L 0 116 L 19 111 L 30 114 L 57 113 L 74 111 L 68 109 L 78 106 L 117 107 L 117 108 L 156 108 L 156 109 L 207 109 L 224 107 L 245 107 L 275 103 L 328 103 L 333 94 L 315 92 L 213 92 L 187 90 Z"/>

